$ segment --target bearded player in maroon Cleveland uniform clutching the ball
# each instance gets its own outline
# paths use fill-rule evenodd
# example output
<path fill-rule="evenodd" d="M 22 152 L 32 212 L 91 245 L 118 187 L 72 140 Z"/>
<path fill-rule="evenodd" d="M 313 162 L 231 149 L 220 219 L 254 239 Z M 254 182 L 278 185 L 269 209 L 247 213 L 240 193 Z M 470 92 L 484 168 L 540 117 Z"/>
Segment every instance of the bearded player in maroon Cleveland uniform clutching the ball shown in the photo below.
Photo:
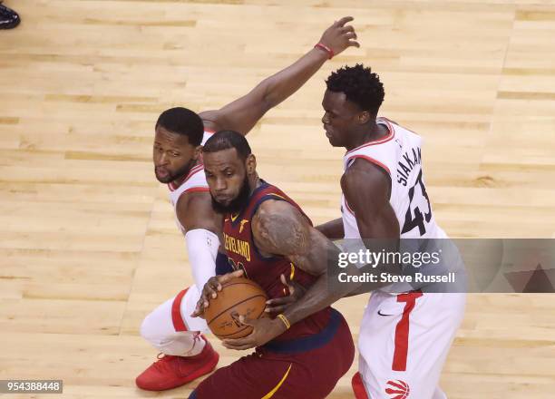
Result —
<path fill-rule="evenodd" d="M 224 215 L 223 238 L 233 268 L 257 282 L 268 297 L 283 297 L 280 276 L 310 287 L 326 271 L 335 245 L 312 227 L 287 195 L 258 178 L 247 140 L 219 131 L 203 148 L 213 207 Z M 205 286 L 195 311 L 201 316 L 217 289 Z M 249 323 L 241 316 L 242 322 Z M 280 334 L 256 352 L 219 368 L 190 399 L 318 399 L 330 394 L 353 363 L 355 348 L 345 318 L 331 307 L 290 325 L 281 314 L 260 319 Z"/>

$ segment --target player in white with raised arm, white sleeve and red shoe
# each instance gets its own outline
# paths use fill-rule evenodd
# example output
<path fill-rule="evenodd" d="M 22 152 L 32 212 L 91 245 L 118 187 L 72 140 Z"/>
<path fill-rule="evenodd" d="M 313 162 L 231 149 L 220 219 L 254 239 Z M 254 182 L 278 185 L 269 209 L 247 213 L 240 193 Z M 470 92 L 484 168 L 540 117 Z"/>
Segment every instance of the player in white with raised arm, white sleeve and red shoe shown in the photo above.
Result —
<path fill-rule="evenodd" d="M 136 379 L 145 390 L 161 391 L 187 384 L 211 372 L 219 355 L 200 335 L 207 329 L 199 317 L 191 317 L 200 291 L 197 287 L 230 270 L 219 254 L 219 216 L 212 210 L 209 187 L 200 159 L 201 144 L 220 130 L 247 134 L 269 109 L 284 101 L 335 54 L 358 47 L 352 21 L 344 17 L 326 29 L 315 48 L 296 63 L 259 83 L 247 95 L 216 111 L 196 114 L 185 108 L 161 113 L 156 122 L 153 161 L 156 178 L 170 189 L 177 224 L 185 236 L 194 286 L 184 289 L 146 316 L 141 336 L 161 354 L 159 360 Z"/>

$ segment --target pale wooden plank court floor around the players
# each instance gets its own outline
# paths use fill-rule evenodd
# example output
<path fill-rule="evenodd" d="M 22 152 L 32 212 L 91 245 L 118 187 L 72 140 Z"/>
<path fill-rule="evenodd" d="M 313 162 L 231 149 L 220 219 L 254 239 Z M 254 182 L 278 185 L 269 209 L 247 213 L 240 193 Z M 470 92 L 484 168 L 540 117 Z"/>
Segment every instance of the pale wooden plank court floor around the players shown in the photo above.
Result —
<path fill-rule="evenodd" d="M 328 73 L 365 63 L 385 83 L 382 114 L 424 137 L 451 237 L 555 238 L 555 1 L 5 3 L 23 23 L 0 31 L 0 379 L 63 379 L 64 398 L 188 396 L 196 383 L 133 382 L 156 355 L 141 319 L 191 283 L 153 124 L 248 92 L 343 15 L 361 48 L 250 133 L 261 176 L 314 221 L 339 216 L 343 151 L 320 102 Z M 355 336 L 366 299 L 337 306 Z M 239 355 L 216 345 L 220 365 Z M 355 367 L 331 398 L 352 397 Z M 553 398 L 555 297 L 471 295 L 441 384 L 451 399 Z"/>

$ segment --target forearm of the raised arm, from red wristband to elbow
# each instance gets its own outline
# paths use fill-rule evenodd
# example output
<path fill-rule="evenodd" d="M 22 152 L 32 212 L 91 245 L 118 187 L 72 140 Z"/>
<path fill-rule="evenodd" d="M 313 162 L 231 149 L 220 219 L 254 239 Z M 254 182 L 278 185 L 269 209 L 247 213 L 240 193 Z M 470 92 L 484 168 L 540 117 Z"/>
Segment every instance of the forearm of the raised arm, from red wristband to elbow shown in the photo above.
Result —
<path fill-rule="evenodd" d="M 260 84 L 264 86 L 264 102 L 268 108 L 275 107 L 297 92 L 326 63 L 327 58 L 326 52 L 313 48 L 295 63 L 262 81 Z"/>

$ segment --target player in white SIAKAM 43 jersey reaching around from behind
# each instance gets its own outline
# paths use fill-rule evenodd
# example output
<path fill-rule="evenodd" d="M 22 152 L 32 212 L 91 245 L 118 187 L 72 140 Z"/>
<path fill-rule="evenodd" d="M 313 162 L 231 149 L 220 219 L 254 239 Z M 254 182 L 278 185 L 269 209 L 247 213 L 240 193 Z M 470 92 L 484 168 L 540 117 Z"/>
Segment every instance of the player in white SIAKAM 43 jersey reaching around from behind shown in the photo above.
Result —
<path fill-rule="evenodd" d="M 422 170 L 422 139 L 395 122 L 377 118 L 383 84 L 361 64 L 344 67 L 326 81 L 322 122 L 334 147 L 345 147 L 341 178 L 342 218 L 316 227 L 327 238 L 446 238 L 433 219 Z M 360 328 L 357 399 L 443 399 L 439 377 L 461 323 L 464 294 L 422 293 L 388 283 L 370 297 Z M 319 279 L 304 297 L 287 307 L 290 324 L 330 305 L 343 293 L 330 293 Z M 398 293 L 398 294 L 397 294 Z M 279 331 L 257 325 L 245 338 L 224 341 L 229 348 L 262 345 Z"/>

